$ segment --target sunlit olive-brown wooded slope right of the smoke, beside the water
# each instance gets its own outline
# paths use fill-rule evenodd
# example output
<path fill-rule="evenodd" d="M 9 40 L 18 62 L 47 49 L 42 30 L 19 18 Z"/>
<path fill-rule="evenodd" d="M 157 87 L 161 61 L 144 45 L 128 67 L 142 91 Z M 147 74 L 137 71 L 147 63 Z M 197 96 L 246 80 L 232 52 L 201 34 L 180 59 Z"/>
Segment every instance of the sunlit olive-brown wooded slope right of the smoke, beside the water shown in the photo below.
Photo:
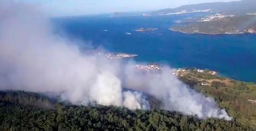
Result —
<path fill-rule="evenodd" d="M 256 129 L 256 103 L 248 101 L 256 100 L 255 83 L 234 81 L 196 70 L 180 79 L 206 96 L 214 97 L 221 108 L 243 125 Z M 201 83 L 207 83 L 207 86 Z"/>

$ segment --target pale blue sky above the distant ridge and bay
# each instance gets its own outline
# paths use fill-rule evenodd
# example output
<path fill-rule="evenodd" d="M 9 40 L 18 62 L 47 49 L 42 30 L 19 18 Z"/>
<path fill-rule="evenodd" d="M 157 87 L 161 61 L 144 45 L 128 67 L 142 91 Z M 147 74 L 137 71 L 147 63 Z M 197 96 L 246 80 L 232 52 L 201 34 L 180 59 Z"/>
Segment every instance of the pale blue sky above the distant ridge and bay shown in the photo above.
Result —
<path fill-rule="evenodd" d="M 88 15 L 112 12 L 135 12 L 174 8 L 206 2 L 230 2 L 234 0 L 16 0 L 38 4 L 54 16 Z"/>

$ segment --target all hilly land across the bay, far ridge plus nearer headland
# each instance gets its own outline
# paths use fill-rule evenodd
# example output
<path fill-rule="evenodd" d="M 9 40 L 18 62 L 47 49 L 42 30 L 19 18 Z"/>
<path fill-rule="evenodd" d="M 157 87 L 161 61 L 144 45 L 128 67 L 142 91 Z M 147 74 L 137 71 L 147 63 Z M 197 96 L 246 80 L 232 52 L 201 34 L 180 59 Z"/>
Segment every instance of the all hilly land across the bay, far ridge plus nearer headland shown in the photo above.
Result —
<path fill-rule="evenodd" d="M 204 17 L 175 20 L 170 29 L 189 34 L 247 34 L 256 33 L 256 0 L 200 3 L 166 8 L 152 12 L 114 13 L 112 17 L 179 15 L 209 12 Z"/>

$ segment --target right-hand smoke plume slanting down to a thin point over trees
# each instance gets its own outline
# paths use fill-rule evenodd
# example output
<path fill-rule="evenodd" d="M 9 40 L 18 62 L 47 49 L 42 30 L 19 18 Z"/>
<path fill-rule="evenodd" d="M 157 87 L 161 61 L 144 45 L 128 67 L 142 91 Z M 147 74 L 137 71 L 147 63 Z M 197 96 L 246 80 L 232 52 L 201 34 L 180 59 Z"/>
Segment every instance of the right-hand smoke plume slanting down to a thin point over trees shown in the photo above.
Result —
<path fill-rule="evenodd" d="M 140 74 L 136 77 L 128 70 L 126 86 L 155 96 L 164 101 L 164 109 L 197 115 L 199 118 L 226 118 L 225 110 L 219 109 L 212 97 L 206 97 L 179 81 L 172 70 L 165 67 L 160 73 Z M 142 88 L 146 87 L 146 88 Z"/>

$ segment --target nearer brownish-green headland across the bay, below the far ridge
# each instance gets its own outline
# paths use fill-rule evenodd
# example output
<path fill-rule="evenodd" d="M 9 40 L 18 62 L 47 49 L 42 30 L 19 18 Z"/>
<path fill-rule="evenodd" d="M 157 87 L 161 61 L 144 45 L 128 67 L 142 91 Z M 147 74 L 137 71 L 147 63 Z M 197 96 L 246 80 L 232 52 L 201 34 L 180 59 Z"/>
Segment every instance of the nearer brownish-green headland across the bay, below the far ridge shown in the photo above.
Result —
<path fill-rule="evenodd" d="M 225 17 L 214 21 L 194 22 L 192 24 L 174 25 L 171 29 L 185 33 L 247 33 L 250 30 L 256 32 L 256 15 L 242 15 L 237 17 Z M 248 30 L 249 29 L 249 30 Z"/>

